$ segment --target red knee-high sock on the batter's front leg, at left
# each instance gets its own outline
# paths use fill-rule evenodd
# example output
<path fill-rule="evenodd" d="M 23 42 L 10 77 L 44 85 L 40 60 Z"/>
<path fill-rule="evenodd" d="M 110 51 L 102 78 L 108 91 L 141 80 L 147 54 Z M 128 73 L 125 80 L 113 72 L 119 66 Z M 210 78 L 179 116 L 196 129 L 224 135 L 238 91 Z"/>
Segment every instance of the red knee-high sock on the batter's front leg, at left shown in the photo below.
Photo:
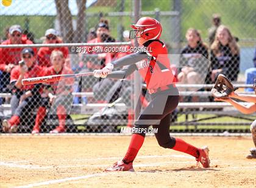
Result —
<path fill-rule="evenodd" d="M 138 151 L 140 150 L 140 148 L 144 142 L 144 138 L 145 138 L 144 136 L 141 136 L 138 134 L 132 135 L 132 139 L 130 141 L 130 146 L 128 147 L 126 156 L 124 156 L 124 158 L 123 158 L 124 163 L 128 164 L 135 159 Z"/>

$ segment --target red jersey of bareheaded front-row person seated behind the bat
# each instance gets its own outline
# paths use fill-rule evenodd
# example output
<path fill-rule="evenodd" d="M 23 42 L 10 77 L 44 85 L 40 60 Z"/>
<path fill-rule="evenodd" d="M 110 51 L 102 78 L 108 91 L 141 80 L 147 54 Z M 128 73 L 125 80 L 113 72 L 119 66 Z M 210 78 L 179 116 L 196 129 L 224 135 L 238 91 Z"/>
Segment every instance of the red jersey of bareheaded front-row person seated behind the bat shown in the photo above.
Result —
<path fill-rule="evenodd" d="M 53 66 L 44 70 L 44 76 L 69 74 L 73 74 L 73 71 L 66 66 L 64 66 L 60 72 L 55 72 Z M 59 82 L 50 82 L 49 84 L 51 84 L 55 94 L 62 94 L 63 92 L 71 93 L 73 92 L 74 78 L 63 79 Z"/>

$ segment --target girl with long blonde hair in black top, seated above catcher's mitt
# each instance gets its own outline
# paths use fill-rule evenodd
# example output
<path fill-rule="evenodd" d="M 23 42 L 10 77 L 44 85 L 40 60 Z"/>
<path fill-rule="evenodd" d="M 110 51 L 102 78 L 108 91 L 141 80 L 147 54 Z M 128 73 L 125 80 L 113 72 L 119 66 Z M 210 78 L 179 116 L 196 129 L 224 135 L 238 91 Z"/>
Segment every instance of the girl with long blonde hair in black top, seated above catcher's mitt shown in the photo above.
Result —
<path fill-rule="evenodd" d="M 236 81 L 240 65 L 240 49 L 230 30 L 220 25 L 216 31 L 215 41 L 210 49 L 211 79 L 214 83 L 219 73 Z"/>

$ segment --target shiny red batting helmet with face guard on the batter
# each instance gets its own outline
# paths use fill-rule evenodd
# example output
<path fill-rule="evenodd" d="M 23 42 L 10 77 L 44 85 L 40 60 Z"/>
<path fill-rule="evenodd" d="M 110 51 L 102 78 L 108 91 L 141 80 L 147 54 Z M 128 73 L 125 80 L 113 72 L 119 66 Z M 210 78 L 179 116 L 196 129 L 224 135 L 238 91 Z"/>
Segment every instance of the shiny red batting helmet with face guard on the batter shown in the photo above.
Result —
<path fill-rule="evenodd" d="M 132 24 L 131 27 L 135 30 L 130 30 L 130 39 L 144 38 L 147 40 L 159 39 L 162 33 L 160 22 L 151 17 L 140 18 L 137 24 Z M 141 36 L 137 36 L 141 32 Z"/>

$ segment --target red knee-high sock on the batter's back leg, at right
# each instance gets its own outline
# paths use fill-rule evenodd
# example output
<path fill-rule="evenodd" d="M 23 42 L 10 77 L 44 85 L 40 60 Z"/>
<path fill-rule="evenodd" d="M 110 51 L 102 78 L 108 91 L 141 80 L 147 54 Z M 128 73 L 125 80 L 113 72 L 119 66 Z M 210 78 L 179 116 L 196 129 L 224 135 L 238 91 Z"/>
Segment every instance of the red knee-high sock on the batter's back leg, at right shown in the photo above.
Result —
<path fill-rule="evenodd" d="M 176 144 L 174 147 L 172 147 L 172 149 L 179 151 L 179 152 L 188 153 L 188 154 L 194 156 L 195 158 L 197 158 L 199 156 L 199 149 L 197 147 L 194 147 L 194 146 L 186 143 L 185 141 L 183 141 L 180 138 L 175 138 L 175 139 L 176 139 Z"/>

